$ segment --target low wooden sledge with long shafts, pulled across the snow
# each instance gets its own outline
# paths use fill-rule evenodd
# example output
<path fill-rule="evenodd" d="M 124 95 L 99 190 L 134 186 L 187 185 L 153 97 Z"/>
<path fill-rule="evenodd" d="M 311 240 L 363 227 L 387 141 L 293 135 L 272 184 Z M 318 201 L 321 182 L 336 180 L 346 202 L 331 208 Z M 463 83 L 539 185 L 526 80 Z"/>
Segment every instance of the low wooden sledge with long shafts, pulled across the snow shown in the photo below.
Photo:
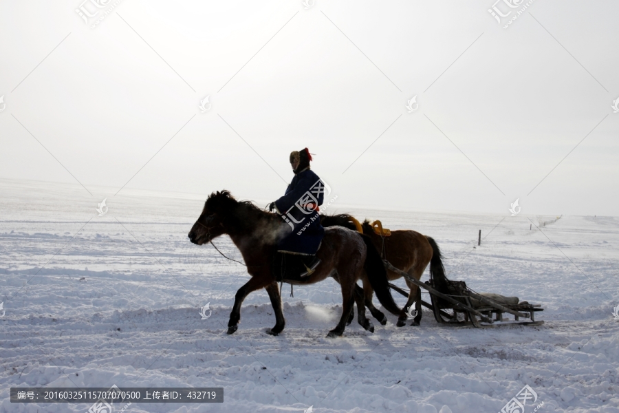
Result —
<path fill-rule="evenodd" d="M 441 324 L 450 324 L 453 326 L 470 326 L 476 328 L 489 328 L 498 326 L 541 326 L 544 321 L 535 321 L 535 313 L 543 311 L 540 304 L 529 304 L 523 301 L 519 304 L 501 304 L 495 299 L 484 297 L 471 291 L 464 281 L 448 281 L 449 294 L 440 293 L 435 290 L 433 281 L 420 282 L 395 268 L 388 261 L 383 260 L 385 268 L 402 275 L 410 282 L 428 290 L 430 293 L 431 304 L 421 300 L 422 306 L 429 308 L 434 313 L 434 318 Z M 409 292 L 389 283 L 389 287 L 398 293 L 409 297 Z M 478 305 L 474 306 L 473 302 Z M 445 310 L 451 310 L 451 314 Z M 458 314 L 464 314 L 464 321 L 458 320 Z M 514 319 L 503 318 L 504 314 L 511 314 Z M 528 319 L 521 321 L 521 318 Z"/>

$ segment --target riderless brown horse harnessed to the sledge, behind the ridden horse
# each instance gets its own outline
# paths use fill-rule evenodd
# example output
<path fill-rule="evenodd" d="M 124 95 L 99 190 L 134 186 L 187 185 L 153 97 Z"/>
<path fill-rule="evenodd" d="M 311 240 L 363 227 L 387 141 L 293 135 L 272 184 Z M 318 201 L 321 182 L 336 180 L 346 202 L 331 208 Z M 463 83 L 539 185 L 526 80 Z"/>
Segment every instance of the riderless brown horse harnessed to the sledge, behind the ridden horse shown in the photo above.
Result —
<path fill-rule="evenodd" d="M 321 224 L 327 228 L 331 226 L 344 226 L 348 229 L 356 230 L 355 219 L 348 214 L 339 215 L 321 215 Z M 363 233 L 370 237 L 372 243 L 378 251 L 381 251 L 382 258 L 389 261 L 395 268 L 400 271 L 408 273 L 411 277 L 419 280 L 426 269 L 426 266 L 430 264 L 430 276 L 435 280 L 435 283 L 442 285 L 445 278 L 445 269 L 442 263 L 442 256 L 439 247 L 436 242 L 426 235 L 422 235 L 416 231 L 410 230 L 398 230 L 391 231 L 390 236 L 382 236 L 377 234 L 368 220 L 365 220 L 361 224 Z M 362 275 L 362 279 L 365 275 Z M 387 277 L 389 281 L 398 279 L 402 275 L 394 273 L 393 271 L 387 271 Z M 422 304 L 421 304 L 421 290 L 415 284 L 405 280 L 406 285 L 410 288 L 409 299 L 406 301 L 406 306 L 402 308 L 402 311 L 398 315 L 398 327 L 406 325 L 406 319 L 408 319 L 408 312 L 411 313 L 411 305 L 415 301 L 415 310 L 417 315 L 413 319 L 411 326 L 419 326 L 422 319 Z M 445 281 L 446 282 L 446 281 Z M 357 293 L 360 293 L 358 291 Z M 372 289 L 368 283 L 363 283 L 362 294 L 365 297 L 365 305 L 369 308 L 373 317 L 380 321 L 380 324 L 386 324 L 387 318 L 384 314 L 378 310 L 372 304 Z M 358 304 L 357 304 L 358 305 Z M 351 313 L 354 316 L 354 314 Z M 349 319 L 349 322 L 352 319 Z"/>

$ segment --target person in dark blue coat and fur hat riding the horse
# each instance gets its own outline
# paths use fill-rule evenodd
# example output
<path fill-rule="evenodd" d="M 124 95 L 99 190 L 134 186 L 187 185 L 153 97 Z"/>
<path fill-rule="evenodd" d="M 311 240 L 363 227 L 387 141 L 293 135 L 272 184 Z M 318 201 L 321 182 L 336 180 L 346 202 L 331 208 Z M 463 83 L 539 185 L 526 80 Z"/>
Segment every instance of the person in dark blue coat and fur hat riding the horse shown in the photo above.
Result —
<path fill-rule="evenodd" d="M 294 178 L 283 197 L 269 205 L 269 210 L 275 210 L 288 224 L 285 235 L 276 247 L 276 261 L 281 265 L 277 274 L 279 279 L 283 275 L 307 277 L 321 263 L 316 252 L 321 246 L 325 229 L 318 215 L 318 205 L 323 204 L 325 186 L 310 169 L 311 160 L 312 155 L 307 148 L 290 153 Z"/>

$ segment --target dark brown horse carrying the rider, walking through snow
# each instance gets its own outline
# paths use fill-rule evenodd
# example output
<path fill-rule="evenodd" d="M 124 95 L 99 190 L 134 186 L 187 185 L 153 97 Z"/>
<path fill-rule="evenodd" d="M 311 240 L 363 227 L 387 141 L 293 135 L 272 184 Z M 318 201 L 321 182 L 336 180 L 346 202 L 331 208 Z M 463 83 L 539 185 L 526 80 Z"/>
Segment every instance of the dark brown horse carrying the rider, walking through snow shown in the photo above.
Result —
<path fill-rule="evenodd" d="M 228 322 L 228 334 L 232 334 L 238 328 L 241 304 L 245 297 L 260 288 L 267 290 L 275 311 L 275 326 L 267 332 L 278 335 L 283 330 L 285 319 L 281 309 L 281 296 L 271 266 L 277 240 L 283 234 L 286 225 L 279 215 L 262 211 L 249 201 L 237 201 L 228 191 L 218 191 L 209 195 L 202 214 L 189 231 L 189 240 L 198 245 L 206 244 L 219 235 L 228 234 L 241 251 L 247 272 L 252 276 L 237 291 L 235 305 L 232 307 Z M 369 282 L 371 288 L 376 291 L 380 304 L 389 312 L 400 314 L 400 308 L 391 297 L 387 273 L 380 255 L 369 237 L 340 226 L 325 229 L 325 237 L 316 256 L 322 260 L 316 271 L 302 281 L 291 284 L 314 284 L 329 276 L 340 283 L 343 314 L 336 328 L 331 330 L 327 337 L 343 334 L 346 321 L 354 308 L 354 301 L 357 302 L 359 324 L 373 332 L 371 322 L 365 317 L 363 297 L 354 294 L 357 280 L 362 277 L 364 270 L 367 273 L 363 280 L 364 285 L 365 282 Z"/>

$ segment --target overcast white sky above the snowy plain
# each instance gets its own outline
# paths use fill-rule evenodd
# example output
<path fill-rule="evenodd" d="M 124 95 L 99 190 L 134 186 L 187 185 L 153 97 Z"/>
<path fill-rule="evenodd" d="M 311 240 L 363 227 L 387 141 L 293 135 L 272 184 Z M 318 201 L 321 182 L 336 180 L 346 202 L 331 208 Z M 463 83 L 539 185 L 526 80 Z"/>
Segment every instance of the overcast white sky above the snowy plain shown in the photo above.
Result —
<path fill-rule="evenodd" d="M 619 215 L 616 1 L 80 1 L 0 1 L 0 178 L 274 200 L 307 146 L 342 204 Z"/>

